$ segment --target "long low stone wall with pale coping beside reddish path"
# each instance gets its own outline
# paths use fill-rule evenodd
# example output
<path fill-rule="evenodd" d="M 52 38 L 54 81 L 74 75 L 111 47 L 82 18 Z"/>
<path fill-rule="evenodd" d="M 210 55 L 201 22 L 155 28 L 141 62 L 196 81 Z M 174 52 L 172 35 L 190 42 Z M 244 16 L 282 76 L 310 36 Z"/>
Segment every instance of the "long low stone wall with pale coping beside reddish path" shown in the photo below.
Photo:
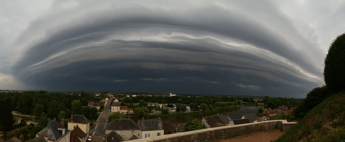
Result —
<path fill-rule="evenodd" d="M 296 124 L 296 122 L 287 122 L 286 120 L 262 121 L 248 124 L 208 128 L 162 136 L 154 136 L 151 138 L 138 139 L 127 142 L 208 142 L 275 129 L 285 131 L 292 127 L 294 124 Z"/>

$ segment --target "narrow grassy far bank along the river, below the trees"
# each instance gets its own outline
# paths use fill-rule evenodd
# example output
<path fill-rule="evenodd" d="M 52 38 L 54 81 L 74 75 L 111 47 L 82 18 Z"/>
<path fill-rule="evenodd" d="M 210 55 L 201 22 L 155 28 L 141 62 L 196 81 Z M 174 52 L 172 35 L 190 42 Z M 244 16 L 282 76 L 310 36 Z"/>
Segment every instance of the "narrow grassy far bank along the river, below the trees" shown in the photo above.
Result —
<path fill-rule="evenodd" d="M 179 116 L 179 115 L 193 115 L 193 114 L 202 114 L 202 113 L 215 113 L 217 111 L 220 110 L 224 110 L 224 109 L 234 109 L 234 108 L 241 108 L 240 105 L 236 105 L 236 106 L 228 106 L 228 107 L 221 107 L 221 108 L 215 108 L 213 110 L 208 110 L 208 111 L 196 111 L 196 112 L 169 112 L 168 114 L 150 114 L 150 117 L 164 117 L 164 116 Z"/>

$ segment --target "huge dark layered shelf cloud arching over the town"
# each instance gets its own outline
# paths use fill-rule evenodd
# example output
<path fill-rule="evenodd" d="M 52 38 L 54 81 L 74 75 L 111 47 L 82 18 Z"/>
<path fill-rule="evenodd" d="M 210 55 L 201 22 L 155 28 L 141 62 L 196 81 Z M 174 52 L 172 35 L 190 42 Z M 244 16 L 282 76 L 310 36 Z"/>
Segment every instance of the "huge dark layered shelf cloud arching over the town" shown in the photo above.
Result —
<path fill-rule="evenodd" d="M 25 52 L 12 74 L 51 91 L 303 97 L 323 83 L 324 53 L 275 4 L 248 17 L 219 4 L 80 12 L 85 3 L 58 11 L 53 3 L 32 20 L 15 44 Z"/>

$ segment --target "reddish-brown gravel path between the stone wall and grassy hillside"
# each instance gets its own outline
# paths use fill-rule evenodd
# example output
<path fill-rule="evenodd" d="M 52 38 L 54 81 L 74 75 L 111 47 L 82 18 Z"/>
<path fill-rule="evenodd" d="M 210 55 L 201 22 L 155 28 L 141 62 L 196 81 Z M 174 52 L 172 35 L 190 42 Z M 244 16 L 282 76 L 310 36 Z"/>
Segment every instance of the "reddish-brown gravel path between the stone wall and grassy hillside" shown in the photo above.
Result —
<path fill-rule="evenodd" d="M 285 132 L 280 132 L 280 129 L 267 131 L 267 132 L 257 132 L 247 135 L 236 136 L 235 138 L 229 138 L 225 140 L 220 140 L 218 142 L 269 142 L 275 140 L 282 136 Z"/>

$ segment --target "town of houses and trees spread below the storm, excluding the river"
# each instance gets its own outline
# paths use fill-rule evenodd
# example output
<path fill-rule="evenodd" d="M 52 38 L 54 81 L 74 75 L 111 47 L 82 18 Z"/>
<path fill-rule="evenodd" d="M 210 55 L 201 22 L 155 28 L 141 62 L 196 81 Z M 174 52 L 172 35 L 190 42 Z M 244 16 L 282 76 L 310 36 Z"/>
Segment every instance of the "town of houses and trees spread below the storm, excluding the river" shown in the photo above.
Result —
<path fill-rule="evenodd" d="M 2 125 L 7 126 L 4 129 L 7 131 L 1 131 L 0 140 L 6 142 L 120 142 L 278 119 L 296 122 L 290 114 L 302 102 L 302 99 L 268 96 L 254 99 L 83 91 L 2 91 L 0 98 L 7 101 L 2 105 L 14 110 L 10 114 L 12 123 L 7 123 L 12 125 Z M 236 112 L 241 107 L 254 107 L 257 111 L 238 116 L 219 114 L 220 110 L 235 108 Z M 204 116 L 184 122 L 163 119 L 200 113 Z"/>

